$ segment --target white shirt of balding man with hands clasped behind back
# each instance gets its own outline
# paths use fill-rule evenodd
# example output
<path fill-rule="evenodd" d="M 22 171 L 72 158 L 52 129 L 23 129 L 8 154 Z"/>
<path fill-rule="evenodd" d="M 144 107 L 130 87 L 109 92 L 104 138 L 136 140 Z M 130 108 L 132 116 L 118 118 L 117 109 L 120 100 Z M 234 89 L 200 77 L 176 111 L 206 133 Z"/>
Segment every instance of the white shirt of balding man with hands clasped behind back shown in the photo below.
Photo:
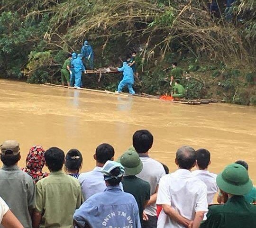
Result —
<path fill-rule="evenodd" d="M 161 178 L 156 204 L 170 205 L 181 216 L 193 220 L 195 212 L 208 211 L 206 185 L 194 177 L 189 170 L 178 169 Z M 170 219 L 162 210 L 157 228 L 184 228 L 184 226 Z"/>

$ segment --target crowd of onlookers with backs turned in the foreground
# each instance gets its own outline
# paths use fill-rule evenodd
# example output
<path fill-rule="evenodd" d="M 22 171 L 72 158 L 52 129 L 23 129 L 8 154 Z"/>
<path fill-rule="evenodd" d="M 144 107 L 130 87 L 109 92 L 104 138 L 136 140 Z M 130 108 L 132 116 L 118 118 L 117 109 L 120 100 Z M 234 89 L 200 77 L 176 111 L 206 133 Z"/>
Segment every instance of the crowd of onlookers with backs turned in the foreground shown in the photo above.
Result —
<path fill-rule="evenodd" d="M 18 142 L 0 145 L 0 227 L 5 228 L 254 228 L 256 188 L 245 161 L 210 173 L 210 152 L 182 146 L 177 170 L 152 159 L 153 136 L 138 130 L 115 159 L 96 148 L 95 168 L 80 173 L 82 153 L 33 146 L 26 167 Z M 87 158 L 88 159 L 88 158 Z M 49 173 L 42 171 L 43 167 Z M 64 166 L 64 172 L 63 172 Z M 195 170 L 192 171 L 192 168 Z M 217 194 L 219 204 L 213 205 Z"/>

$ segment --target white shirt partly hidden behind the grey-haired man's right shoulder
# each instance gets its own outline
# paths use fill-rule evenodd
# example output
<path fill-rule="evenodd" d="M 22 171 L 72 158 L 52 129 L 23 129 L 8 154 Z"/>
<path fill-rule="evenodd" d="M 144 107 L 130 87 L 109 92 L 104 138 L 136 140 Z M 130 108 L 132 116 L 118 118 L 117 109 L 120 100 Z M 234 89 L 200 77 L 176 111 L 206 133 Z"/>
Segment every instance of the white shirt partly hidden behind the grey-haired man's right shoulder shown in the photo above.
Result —
<path fill-rule="evenodd" d="M 210 173 L 208 170 L 195 170 L 192 172 L 192 174 L 206 184 L 207 201 L 208 204 L 211 204 L 214 195 L 219 191 L 219 188 L 216 183 L 217 174 Z"/>

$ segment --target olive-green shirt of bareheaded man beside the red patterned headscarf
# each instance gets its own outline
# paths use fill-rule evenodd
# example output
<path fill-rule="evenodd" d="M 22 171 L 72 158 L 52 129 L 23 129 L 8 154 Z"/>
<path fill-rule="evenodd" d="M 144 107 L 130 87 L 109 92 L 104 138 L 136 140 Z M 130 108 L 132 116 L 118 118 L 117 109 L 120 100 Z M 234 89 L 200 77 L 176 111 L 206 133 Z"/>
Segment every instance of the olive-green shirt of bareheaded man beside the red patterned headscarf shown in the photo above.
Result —
<path fill-rule="evenodd" d="M 77 179 L 62 171 L 51 172 L 36 184 L 36 211 L 42 213 L 45 228 L 73 227 L 73 214 L 82 204 Z"/>

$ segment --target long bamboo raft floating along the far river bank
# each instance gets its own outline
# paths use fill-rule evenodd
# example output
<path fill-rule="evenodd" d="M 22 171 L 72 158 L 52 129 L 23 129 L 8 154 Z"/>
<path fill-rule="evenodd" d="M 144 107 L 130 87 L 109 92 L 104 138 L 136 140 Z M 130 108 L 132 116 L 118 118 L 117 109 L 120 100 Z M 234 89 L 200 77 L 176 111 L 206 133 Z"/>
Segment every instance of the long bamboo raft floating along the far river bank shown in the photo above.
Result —
<path fill-rule="evenodd" d="M 52 83 L 44 83 L 43 85 L 45 86 L 53 86 L 53 87 L 58 87 L 58 88 L 68 88 L 67 86 L 62 86 L 62 85 L 56 85 Z M 74 87 L 70 87 L 69 89 L 75 90 Z M 123 97 L 138 97 L 138 98 L 144 98 L 148 100 L 160 100 L 160 96 L 154 96 L 146 93 L 141 93 L 141 94 L 128 94 L 128 93 L 116 93 L 116 92 L 111 92 L 108 90 L 93 90 L 93 89 L 86 89 L 86 88 L 80 88 L 79 90 L 81 91 L 90 91 L 90 92 L 98 92 L 98 93 L 105 93 L 105 94 L 112 94 L 112 95 L 118 95 L 118 96 L 123 96 Z M 216 103 L 218 100 L 216 99 L 197 99 L 197 100 L 188 100 L 188 99 L 183 99 L 183 100 L 162 100 L 166 102 L 172 102 L 172 103 L 178 103 L 178 104 L 189 104 L 189 105 L 200 105 L 200 104 L 209 104 L 209 103 Z"/>

